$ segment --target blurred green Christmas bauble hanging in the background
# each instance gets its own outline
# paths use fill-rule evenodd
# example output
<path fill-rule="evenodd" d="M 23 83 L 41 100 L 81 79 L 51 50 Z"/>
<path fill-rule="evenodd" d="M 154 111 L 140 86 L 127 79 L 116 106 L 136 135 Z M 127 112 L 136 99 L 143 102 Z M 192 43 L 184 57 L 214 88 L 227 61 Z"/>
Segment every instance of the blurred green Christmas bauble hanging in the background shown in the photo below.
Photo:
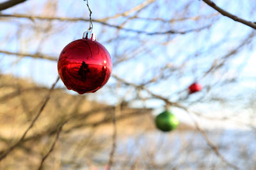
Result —
<path fill-rule="evenodd" d="M 179 125 L 179 120 L 170 111 L 166 110 L 156 117 L 156 127 L 161 131 L 172 131 Z"/>

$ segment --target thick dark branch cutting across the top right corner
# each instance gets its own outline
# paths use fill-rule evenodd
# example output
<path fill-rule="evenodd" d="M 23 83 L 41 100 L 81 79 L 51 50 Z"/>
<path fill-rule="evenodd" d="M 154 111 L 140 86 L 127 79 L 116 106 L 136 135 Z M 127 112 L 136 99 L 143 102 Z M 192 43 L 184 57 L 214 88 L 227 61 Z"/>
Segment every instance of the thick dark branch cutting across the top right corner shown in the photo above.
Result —
<path fill-rule="evenodd" d="M 231 18 L 232 20 L 236 21 L 236 22 L 240 22 L 244 25 L 248 25 L 249 27 L 252 27 L 253 29 L 256 29 L 256 24 L 255 22 L 251 22 L 248 20 L 244 20 L 243 18 L 239 18 L 236 15 L 233 15 L 232 13 L 229 13 L 228 11 L 223 10 L 222 8 L 220 8 L 219 6 L 217 6 L 214 2 L 212 2 L 211 0 L 203 0 L 206 4 L 208 4 L 209 6 L 211 6 L 214 10 L 220 12 L 222 15 Z"/>

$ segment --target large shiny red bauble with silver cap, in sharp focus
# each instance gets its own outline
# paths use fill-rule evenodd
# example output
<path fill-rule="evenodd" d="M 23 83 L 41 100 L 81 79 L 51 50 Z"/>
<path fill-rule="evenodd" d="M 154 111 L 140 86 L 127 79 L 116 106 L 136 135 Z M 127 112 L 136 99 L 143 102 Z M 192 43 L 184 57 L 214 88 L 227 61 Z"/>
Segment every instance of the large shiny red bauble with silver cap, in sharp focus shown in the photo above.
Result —
<path fill-rule="evenodd" d="M 112 61 L 108 50 L 90 31 L 69 43 L 60 53 L 58 73 L 68 90 L 79 94 L 96 92 L 109 80 Z"/>

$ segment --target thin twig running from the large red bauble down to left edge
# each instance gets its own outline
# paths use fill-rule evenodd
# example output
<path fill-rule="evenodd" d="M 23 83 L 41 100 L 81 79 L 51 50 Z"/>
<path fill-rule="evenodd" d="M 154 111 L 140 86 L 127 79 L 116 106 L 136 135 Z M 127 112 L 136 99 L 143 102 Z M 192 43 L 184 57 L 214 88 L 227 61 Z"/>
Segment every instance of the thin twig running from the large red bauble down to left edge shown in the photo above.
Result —
<path fill-rule="evenodd" d="M 31 124 L 29 125 L 28 129 L 26 129 L 26 131 L 24 132 L 24 134 L 22 135 L 22 137 L 19 139 L 19 141 L 17 141 L 17 143 L 15 143 L 13 146 L 11 146 L 10 148 L 8 148 L 2 155 L 0 155 L 0 161 L 3 160 L 10 152 L 12 152 L 18 145 L 20 145 L 20 143 L 22 143 L 22 141 L 24 140 L 24 138 L 26 137 L 26 134 L 28 133 L 28 131 L 33 127 L 33 125 L 35 124 L 36 120 L 38 119 L 38 117 L 41 115 L 42 111 L 44 110 L 47 102 L 50 99 L 52 90 L 54 89 L 56 83 L 60 80 L 60 77 L 58 76 L 57 80 L 55 81 L 55 83 L 52 84 L 51 89 L 49 90 L 49 93 L 47 94 L 47 96 L 45 97 L 44 103 L 42 104 L 40 110 L 38 111 L 38 113 L 36 114 L 36 117 L 33 119 L 33 121 L 31 122 Z"/>

